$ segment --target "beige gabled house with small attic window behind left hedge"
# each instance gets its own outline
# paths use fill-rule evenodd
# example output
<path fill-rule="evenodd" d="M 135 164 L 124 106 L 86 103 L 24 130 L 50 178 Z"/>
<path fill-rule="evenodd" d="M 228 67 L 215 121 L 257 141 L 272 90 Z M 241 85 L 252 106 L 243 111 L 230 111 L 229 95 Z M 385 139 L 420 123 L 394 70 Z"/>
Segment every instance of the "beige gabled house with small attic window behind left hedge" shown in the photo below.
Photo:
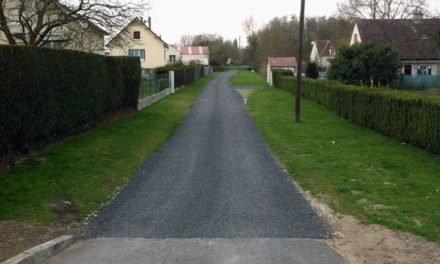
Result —
<path fill-rule="evenodd" d="M 110 42 L 110 56 L 137 56 L 143 69 L 154 69 L 167 64 L 168 44 L 151 30 L 142 18 L 133 19 Z"/>

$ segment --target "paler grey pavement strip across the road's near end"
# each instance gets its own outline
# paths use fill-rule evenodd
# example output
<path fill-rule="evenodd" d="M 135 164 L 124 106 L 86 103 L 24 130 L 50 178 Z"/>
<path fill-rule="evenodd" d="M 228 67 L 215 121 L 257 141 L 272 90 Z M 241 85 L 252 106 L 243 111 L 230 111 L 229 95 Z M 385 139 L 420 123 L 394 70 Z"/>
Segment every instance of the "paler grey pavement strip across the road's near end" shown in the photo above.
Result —
<path fill-rule="evenodd" d="M 79 241 L 47 263 L 347 263 L 312 239 L 141 239 Z"/>

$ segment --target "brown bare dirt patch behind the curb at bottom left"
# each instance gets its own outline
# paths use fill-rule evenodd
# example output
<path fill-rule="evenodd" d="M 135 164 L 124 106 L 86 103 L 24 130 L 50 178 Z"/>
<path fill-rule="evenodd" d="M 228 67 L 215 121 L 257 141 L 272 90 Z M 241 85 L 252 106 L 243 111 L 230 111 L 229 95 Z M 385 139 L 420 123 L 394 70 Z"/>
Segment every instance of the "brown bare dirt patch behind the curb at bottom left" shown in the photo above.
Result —
<path fill-rule="evenodd" d="M 62 235 L 80 235 L 81 226 L 42 226 L 0 221 L 0 262 Z"/>

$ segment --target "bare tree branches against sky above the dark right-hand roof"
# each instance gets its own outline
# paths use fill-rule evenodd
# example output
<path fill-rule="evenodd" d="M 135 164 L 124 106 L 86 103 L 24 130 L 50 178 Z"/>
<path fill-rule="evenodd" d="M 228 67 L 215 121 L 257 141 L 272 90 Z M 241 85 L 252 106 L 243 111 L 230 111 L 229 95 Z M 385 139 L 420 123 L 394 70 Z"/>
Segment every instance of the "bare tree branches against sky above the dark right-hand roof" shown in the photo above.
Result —
<path fill-rule="evenodd" d="M 412 16 L 415 10 L 429 14 L 426 0 L 344 0 L 337 5 L 339 15 L 349 20 L 403 19 Z"/>

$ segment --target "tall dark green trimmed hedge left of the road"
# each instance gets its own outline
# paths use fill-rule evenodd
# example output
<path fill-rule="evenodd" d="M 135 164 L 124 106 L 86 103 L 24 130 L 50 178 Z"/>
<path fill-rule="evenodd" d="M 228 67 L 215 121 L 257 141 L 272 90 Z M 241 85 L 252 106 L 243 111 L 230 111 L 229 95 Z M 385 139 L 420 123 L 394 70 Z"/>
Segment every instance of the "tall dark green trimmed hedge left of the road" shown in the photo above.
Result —
<path fill-rule="evenodd" d="M 136 108 L 138 58 L 0 46 L 0 158 Z"/>

